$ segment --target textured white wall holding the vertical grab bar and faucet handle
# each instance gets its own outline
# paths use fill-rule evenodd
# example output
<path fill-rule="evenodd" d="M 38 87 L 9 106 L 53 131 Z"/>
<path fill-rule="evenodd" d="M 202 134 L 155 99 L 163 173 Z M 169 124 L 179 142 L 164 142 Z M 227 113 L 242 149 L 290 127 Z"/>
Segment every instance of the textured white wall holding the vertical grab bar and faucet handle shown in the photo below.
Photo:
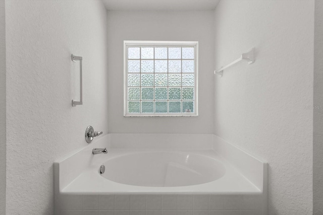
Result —
<path fill-rule="evenodd" d="M 6 1 L 7 214 L 53 214 L 53 161 L 107 133 L 106 10 L 99 1 Z M 78 62 L 83 57 L 83 103 Z"/>

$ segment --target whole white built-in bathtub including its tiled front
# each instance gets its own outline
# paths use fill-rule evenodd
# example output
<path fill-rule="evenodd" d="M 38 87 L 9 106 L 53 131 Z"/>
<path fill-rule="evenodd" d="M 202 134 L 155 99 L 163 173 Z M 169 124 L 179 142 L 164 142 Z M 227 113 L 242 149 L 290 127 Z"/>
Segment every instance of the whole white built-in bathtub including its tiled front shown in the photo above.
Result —
<path fill-rule="evenodd" d="M 214 145 L 213 135 L 156 135 L 109 134 L 56 162 L 56 214 L 266 214 L 264 162 L 219 139 Z M 156 137 L 183 145 L 142 145 Z"/>

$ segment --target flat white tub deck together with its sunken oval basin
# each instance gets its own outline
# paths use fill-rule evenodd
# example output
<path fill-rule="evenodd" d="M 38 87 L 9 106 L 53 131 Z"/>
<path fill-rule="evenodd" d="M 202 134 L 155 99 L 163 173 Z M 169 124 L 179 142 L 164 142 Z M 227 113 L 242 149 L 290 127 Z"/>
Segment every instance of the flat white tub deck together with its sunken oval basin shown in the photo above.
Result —
<path fill-rule="evenodd" d="M 211 150 L 111 149 L 107 154 L 93 156 L 90 163 L 71 183 L 62 186 L 61 192 L 261 193 Z M 105 172 L 99 174 L 102 164 Z"/>

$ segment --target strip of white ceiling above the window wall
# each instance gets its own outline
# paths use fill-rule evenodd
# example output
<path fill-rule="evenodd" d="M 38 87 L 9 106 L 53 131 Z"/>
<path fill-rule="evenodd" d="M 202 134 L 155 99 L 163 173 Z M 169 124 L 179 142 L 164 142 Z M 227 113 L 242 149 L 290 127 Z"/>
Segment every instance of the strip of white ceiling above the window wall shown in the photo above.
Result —
<path fill-rule="evenodd" d="M 102 0 L 108 11 L 204 11 L 220 0 Z"/>

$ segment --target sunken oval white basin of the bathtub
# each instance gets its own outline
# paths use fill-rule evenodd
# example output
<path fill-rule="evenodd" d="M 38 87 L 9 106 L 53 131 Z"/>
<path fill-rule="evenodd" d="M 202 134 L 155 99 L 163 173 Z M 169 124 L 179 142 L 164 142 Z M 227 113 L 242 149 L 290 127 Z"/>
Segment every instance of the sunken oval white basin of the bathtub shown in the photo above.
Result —
<path fill-rule="evenodd" d="M 203 184 L 224 176 L 217 159 L 188 152 L 141 152 L 103 162 L 102 177 L 128 185 L 177 187 Z"/>

